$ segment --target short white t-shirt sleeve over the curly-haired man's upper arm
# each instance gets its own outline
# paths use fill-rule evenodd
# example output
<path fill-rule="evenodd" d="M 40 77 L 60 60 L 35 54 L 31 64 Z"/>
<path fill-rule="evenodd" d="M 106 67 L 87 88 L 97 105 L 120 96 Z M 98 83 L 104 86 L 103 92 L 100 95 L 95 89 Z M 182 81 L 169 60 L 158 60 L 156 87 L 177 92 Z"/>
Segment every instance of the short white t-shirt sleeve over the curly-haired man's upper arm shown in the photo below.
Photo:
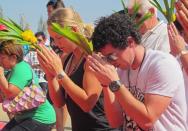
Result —
<path fill-rule="evenodd" d="M 146 93 L 173 97 L 176 90 L 182 88 L 183 76 L 175 59 L 161 59 L 150 67 L 148 74 Z"/>

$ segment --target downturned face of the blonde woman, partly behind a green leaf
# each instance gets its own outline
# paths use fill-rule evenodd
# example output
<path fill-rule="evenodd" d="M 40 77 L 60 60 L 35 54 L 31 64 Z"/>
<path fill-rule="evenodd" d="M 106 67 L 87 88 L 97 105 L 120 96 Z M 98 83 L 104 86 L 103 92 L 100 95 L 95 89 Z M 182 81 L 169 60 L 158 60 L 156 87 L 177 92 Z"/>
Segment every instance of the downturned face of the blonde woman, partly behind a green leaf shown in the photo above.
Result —
<path fill-rule="evenodd" d="M 68 40 L 67 38 L 55 33 L 49 27 L 48 32 L 50 36 L 54 39 L 55 45 L 65 53 L 71 53 L 76 49 L 76 44 Z"/>

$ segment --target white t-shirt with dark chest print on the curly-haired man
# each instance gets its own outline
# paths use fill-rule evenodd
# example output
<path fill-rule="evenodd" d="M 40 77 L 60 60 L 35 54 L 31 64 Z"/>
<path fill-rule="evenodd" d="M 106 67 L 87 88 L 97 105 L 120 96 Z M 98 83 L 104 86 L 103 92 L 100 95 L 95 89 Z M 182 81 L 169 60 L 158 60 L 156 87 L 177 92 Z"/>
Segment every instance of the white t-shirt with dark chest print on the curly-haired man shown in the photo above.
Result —
<path fill-rule="evenodd" d="M 154 131 L 187 131 L 187 105 L 183 75 L 179 63 L 168 53 L 147 50 L 142 66 L 137 70 L 118 69 L 122 83 L 140 101 L 144 94 L 151 93 L 172 98 L 170 105 L 155 122 Z M 160 105 L 159 105 L 160 106 Z M 140 130 L 134 121 L 125 117 L 125 127 Z M 127 129 L 128 130 L 128 129 Z"/>

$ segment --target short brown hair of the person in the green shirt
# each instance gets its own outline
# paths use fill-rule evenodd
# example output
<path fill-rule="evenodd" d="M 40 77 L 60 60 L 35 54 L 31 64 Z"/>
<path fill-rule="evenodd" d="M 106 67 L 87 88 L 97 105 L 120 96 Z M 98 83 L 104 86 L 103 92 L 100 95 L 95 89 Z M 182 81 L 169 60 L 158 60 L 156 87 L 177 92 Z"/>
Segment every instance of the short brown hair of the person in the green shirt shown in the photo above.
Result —
<path fill-rule="evenodd" d="M 23 60 L 23 48 L 14 40 L 5 40 L 0 43 L 0 53 L 8 56 L 16 55 L 17 61 Z"/>

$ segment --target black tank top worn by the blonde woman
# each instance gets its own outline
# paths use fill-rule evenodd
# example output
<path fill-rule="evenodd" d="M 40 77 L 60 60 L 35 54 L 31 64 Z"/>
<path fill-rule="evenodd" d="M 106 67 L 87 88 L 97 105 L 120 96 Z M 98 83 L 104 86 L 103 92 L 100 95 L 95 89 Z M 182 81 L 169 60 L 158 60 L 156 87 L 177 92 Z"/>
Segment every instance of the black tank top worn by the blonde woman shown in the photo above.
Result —
<path fill-rule="evenodd" d="M 67 57 L 65 64 L 68 59 L 70 59 L 70 55 Z M 82 88 L 84 63 L 85 60 L 81 62 L 77 70 L 70 76 L 71 80 L 80 88 Z M 84 112 L 79 105 L 77 105 L 71 97 L 65 93 L 65 90 L 63 93 L 65 95 L 65 102 L 71 117 L 72 131 L 120 131 L 120 129 L 110 128 L 107 122 L 103 108 L 103 93 L 101 93 L 93 109 L 87 113 Z"/>

